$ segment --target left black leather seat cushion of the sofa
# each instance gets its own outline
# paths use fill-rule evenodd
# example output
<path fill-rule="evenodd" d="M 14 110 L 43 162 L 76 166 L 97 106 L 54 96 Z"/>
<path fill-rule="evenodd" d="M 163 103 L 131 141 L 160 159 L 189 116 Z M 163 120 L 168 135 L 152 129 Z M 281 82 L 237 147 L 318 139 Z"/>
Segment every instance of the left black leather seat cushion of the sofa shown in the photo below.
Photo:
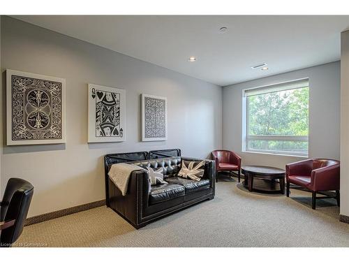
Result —
<path fill-rule="evenodd" d="M 168 201 L 172 198 L 184 196 L 185 189 L 181 184 L 157 184 L 151 186 L 149 192 L 149 203 L 155 204 Z"/>

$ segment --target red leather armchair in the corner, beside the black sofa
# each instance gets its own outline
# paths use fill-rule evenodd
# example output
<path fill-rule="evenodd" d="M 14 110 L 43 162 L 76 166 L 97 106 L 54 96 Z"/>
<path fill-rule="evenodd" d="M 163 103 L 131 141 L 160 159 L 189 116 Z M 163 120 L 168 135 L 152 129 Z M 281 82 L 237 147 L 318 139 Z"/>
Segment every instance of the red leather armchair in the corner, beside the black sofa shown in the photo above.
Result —
<path fill-rule="evenodd" d="M 241 157 L 235 152 L 228 150 L 214 150 L 212 157 L 216 161 L 216 182 L 218 182 L 219 171 L 237 171 L 237 176 L 240 182 Z"/>

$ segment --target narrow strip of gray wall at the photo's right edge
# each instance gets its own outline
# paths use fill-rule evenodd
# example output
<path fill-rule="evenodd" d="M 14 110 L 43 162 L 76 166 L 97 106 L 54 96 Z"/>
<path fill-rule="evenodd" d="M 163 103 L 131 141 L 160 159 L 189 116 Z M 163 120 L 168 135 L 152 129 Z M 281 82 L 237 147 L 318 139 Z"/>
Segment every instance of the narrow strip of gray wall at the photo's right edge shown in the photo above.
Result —
<path fill-rule="evenodd" d="M 341 34 L 341 214 L 349 216 L 349 31 Z"/>

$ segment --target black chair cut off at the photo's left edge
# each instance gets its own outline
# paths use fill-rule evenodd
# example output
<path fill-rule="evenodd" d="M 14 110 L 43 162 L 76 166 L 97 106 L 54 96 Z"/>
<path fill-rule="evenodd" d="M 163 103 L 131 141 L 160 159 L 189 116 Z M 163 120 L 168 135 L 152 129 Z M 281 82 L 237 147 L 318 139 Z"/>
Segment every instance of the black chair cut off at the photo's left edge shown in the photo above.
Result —
<path fill-rule="evenodd" d="M 34 187 L 20 178 L 10 178 L 0 202 L 0 247 L 10 247 L 23 231 Z"/>

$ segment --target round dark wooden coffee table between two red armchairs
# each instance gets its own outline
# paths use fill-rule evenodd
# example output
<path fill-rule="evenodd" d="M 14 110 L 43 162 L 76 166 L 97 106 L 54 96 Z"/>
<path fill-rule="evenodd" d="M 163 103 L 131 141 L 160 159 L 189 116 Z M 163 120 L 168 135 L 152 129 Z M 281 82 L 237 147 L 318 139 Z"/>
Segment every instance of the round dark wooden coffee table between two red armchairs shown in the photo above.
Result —
<path fill-rule="evenodd" d="M 248 191 L 253 190 L 253 178 L 262 180 L 279 180 L 281 194 L 285 194 L 285 170 L 281 168 L 273 168 L 272 166 L 243 166 L 244 186 L 248 187 Z"/>

